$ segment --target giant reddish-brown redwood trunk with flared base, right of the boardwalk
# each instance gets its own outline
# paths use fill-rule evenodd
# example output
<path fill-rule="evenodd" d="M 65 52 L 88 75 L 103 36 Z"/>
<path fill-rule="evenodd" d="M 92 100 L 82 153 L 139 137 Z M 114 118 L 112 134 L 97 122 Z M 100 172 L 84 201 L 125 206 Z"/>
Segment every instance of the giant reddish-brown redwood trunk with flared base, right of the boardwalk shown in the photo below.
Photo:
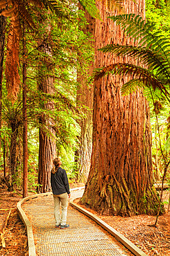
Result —
<path fill-rule="evenodd" d="M 113 14 L 102 2 L 97 7 L 103 22 L 96 20 L 96 50 L 128 44 L 123 30 L 107 19 Z M 126 11 L 144 17 L 145 3 L 126 1 Z M 98 68 L 119 61 L 133 62 L 96 51 Z M 156 214 L 149 105 L 141 91 L 123 97 L 120 87 L 125 82 L 118 75 L 107 75 L 95 83 L 92 163 L 81 202 L 102 214 Z"/>

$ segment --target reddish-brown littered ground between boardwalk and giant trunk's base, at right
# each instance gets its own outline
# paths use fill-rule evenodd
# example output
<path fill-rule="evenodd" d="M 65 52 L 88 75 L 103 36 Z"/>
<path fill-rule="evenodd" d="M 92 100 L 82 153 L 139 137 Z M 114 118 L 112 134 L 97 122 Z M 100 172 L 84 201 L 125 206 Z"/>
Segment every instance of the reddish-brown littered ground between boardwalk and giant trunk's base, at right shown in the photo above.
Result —
<path fill-rule="evenodd" d="M 169 190 L 163 191 L 163 201 L 169 201 L 169 194 Z M 156 217 L 151 215 L 101 216 L 94 210 L 80 204 L 79 199 L 75 199 L 74 203 L 105 221 L 147 255 L 170 256 L 170 209 L 168 212 L 168 204 L 164 204 L 166 212 L 158 217 L 158 223 L 155 227 Z"/>

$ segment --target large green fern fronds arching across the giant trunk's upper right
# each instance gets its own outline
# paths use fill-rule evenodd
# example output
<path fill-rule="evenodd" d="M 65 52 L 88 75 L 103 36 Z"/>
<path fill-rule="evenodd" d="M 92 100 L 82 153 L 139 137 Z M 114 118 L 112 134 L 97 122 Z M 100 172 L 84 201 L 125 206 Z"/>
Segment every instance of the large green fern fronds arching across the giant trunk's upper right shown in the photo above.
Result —
<path fill-rule="evenodd" d="M 127 95 L 136 91 L 138 87 L 159 89 L 170 102 L 170 44 L 164 35 L 153 33 L 154 24 L 145 22 L 140 16 L 118 15 L 109 17 L 125 30 L 125 33 L 132 39 L 134 44 L 138 39 L 138 46 L 109 44 L 98 51 L 113 53 L 116 56 L 129 56 L 134 60 L 148 66 L 136 66 L 134 64 L 116 63 L 110 64 L 94 71 L 94 80 L 98 80 L 108 73 L 114 75 L 130 75 L 131 80 L 123 85 L 121 91 Z"/>

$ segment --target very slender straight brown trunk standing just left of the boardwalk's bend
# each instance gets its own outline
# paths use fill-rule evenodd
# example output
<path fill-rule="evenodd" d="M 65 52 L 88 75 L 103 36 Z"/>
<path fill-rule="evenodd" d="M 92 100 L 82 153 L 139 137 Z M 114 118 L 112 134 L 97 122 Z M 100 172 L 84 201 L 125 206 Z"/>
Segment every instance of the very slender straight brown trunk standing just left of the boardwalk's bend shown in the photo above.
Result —
<path fill-rule="evenodd" d="M 28 122 L 27 122 L 27 84 L 26 71 L 27 64 L 25 24 L 23 22 L 23 197 L 28 196 Z"/>

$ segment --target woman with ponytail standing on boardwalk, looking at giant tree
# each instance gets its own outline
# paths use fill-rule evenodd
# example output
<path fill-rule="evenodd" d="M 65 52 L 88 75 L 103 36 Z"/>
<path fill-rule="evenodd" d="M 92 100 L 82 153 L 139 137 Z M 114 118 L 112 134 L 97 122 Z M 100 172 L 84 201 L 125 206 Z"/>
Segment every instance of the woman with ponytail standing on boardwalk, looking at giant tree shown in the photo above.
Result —
<path fill-rule="evenodd" d="M 54 158 L 54 167 L 51 171 L 51 185 L 54 197 L 54 217 L 56 220 L 56 228 L 68 228 L 67 220 L 67 197 L 71 196 L 70 187 L 67 179 L 67 174 L 61 168 L 61 159 Z M 68 195 L 68 196 L 67 196 Z M 60 217 L 61 203 L 61 217 Z"/>

